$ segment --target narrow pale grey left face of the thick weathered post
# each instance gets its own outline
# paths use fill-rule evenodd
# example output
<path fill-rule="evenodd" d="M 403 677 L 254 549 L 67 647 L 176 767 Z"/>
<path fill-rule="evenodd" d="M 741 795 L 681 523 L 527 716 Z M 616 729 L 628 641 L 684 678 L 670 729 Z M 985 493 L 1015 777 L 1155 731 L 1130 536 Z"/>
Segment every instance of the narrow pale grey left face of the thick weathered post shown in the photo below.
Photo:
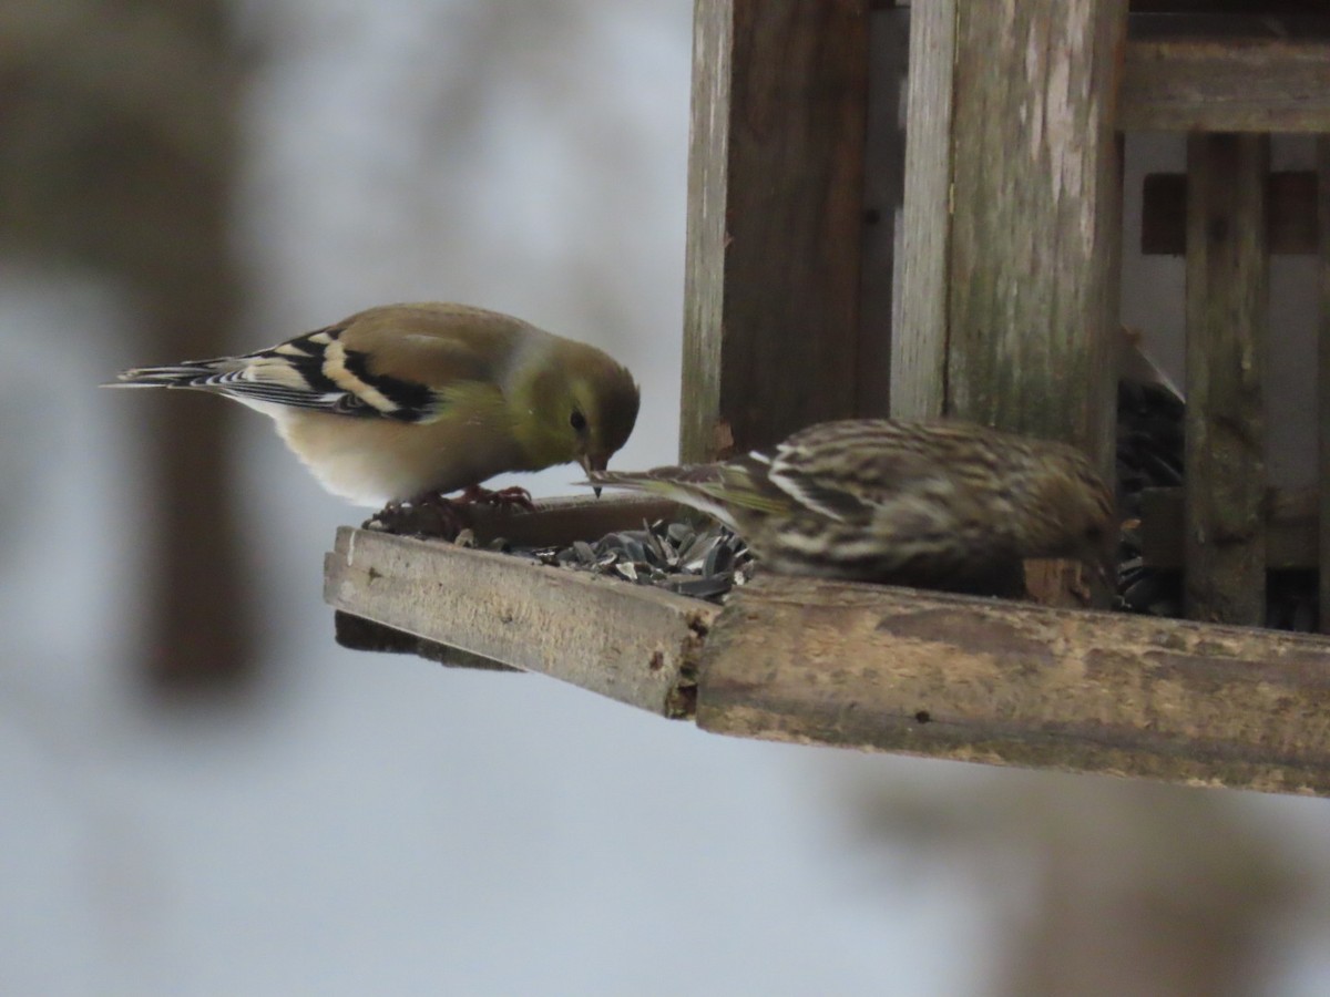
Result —
<path fill-rule="evenodd" d="M 891 413 L 900 419 L 939 416 L 946 404 L 955 61 L 956 0 L 911 7 L 900 286 L 891 335 Z"/>

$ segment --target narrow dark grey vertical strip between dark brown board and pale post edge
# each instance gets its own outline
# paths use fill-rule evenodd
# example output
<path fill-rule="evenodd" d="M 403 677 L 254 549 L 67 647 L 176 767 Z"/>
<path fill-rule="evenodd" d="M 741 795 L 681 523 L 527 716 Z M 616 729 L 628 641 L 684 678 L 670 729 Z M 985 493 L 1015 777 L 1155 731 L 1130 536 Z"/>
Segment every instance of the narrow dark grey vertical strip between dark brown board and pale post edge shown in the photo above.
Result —
<path fill-rule="evenodd" d="M 859 356 L 854 413 L 891 415 L 891 326 L 904 203 L 906 133 L 902 97 L 910 56 L 910 12 L 875 9 L 868 33 L 863 249 L 859 267 Z"/>

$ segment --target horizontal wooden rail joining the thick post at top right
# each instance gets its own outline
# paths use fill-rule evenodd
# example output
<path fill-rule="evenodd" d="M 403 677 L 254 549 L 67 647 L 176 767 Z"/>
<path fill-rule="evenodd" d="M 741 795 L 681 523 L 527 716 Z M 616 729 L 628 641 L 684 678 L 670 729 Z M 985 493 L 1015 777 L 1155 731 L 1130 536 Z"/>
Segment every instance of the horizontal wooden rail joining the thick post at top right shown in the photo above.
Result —
<path fill-rule="evenodd" d="M 1120 126 L 1134 132 L 1325 132 L 1330 129 L 1330 41 L 1132 41 Z"/>

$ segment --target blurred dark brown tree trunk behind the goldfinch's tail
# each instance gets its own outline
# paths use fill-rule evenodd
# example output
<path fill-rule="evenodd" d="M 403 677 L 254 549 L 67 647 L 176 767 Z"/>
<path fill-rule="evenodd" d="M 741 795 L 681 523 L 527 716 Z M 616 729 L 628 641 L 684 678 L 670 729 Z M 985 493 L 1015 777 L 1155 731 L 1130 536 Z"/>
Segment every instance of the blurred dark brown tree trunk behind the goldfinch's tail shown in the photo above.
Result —
<path fill-rule="evenodd" d="M 126 284 L 142 332 L 117 343 L 125 367 L 230 346 L 247 269 L 231 231 L 242 70 L 226 12 L 181 0 L 0 16 L 0 235 Z M 146 556 L 124 581 L 145 589 L 145 678 L 164 693 L 227 690 L 253 674 L 258 641 L 226 461 L 234 413 L 134 395 L 114 404 L 140 413 L 145 452 Z"/>

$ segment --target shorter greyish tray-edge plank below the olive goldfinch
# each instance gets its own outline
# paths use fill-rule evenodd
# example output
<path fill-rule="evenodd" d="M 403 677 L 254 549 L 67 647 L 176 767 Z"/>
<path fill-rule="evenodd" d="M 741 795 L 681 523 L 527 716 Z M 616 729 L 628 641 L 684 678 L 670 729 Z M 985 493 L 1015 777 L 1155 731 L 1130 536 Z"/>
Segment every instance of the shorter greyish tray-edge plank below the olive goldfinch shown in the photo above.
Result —
<path fill-rule="evenodd" d="M 718 608 L 505 554 L 342 528 L 326 558 L 334 609 L 665 715 L 692 711 Z"/>

